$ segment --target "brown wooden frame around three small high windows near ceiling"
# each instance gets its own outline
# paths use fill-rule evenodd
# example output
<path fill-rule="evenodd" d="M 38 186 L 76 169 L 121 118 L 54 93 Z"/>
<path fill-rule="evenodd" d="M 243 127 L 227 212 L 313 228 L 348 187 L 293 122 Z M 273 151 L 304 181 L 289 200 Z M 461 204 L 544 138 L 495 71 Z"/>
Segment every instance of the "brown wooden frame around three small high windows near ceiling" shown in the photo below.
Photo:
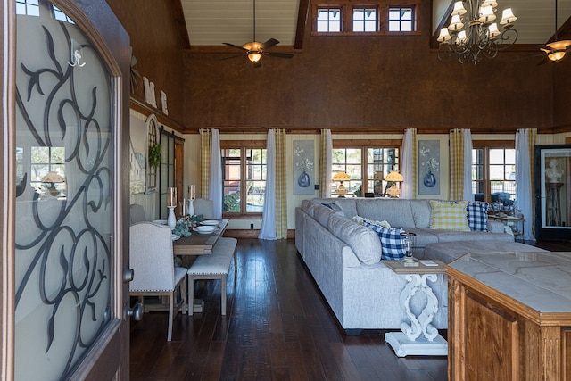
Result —
<path fill-rule="evenodd" d="M 342 30 L 340 32 L 318 31 L 318 11 L 337 7 L 343 12 L 341 16 Z M 412 31 L 389 31 L 389 9 L 396 7 L 410 7 L 412 9 Z M 398 3 L 393 3 L 391 0 L 360 0 L 357 4 L 352 0 L 311 0 L 311 36 L 420 36 L 419 7 L 420 0 L 405 0 Z M 377 31 L 353 31 L 353 10 L 362 8 L 377 8 Z"/>

